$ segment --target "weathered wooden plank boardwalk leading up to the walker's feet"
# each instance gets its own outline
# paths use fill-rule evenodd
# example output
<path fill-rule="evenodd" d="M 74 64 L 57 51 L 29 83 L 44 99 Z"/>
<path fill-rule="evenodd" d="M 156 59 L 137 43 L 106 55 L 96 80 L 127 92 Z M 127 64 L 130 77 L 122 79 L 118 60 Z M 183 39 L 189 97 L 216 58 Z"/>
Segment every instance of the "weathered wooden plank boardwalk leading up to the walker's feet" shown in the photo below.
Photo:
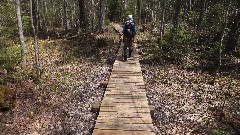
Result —
<path fill-rule="evenodd" d="M 100 105 L 93 135 L 155 135 L 139 56 L 118 59 Z"/>

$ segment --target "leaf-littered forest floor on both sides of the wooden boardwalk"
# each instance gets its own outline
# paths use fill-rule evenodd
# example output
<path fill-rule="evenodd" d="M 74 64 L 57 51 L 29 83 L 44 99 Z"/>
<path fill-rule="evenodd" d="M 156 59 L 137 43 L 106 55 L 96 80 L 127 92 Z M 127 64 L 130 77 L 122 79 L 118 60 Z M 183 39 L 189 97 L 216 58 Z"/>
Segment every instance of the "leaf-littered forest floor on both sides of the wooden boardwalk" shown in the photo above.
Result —
<path fill-rule="evenodd" d="M 143 52 L 151 48 L 143 42 L 149 38 L 148 33 L 136 38 Z M 13 110 L 0 112 L 1 134 L 91 134 L 96 119 L 91 106 L 103 97 L 99 82 L 110 76 L 119 35 L 110 25 L 95 39 L 93 44 L 40 40 L 41 82 L 33 81 L 34 63 L 29 57 L 28 72 L 18 73 L 22 78 L 8 84 L 16 90 L 17 100 Z M 147 54 L 141 59 L 148 61 Z M 239 134 L 239 79 L 221 77 L 211 85 L 212 75 L 202 71 L 167 63 L 141 64 L 157 134 Z"/>

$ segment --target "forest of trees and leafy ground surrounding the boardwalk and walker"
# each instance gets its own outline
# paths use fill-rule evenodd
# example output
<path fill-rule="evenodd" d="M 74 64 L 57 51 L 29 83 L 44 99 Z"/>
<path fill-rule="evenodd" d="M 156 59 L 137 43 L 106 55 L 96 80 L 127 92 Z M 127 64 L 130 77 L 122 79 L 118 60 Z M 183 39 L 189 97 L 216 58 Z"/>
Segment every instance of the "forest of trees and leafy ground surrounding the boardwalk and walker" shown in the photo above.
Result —
<path fill-rule="evenodd" d="M 156 133 L 240 134 L 239 0 L 1 0 L 0 134 L 91 134 L 129 14 Z"/>

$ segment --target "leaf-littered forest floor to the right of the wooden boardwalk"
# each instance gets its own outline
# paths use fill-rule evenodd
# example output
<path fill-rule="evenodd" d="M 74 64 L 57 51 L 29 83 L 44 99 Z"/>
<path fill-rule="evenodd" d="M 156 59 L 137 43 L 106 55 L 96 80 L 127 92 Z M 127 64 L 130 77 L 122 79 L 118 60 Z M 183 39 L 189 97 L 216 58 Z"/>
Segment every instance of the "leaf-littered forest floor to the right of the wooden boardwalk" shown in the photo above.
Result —
<path fill-rule="evenodd" d="M 151 51 L 156 48 L 151 41 L 156 39 L 151 37 L 142 34 L 137 40 L 143 44 L 140 60 L 157 134 L 240 134 L 239 75 L 229 70 L 214 80 L 214 74 L 188 69 L 187 63 L 154 63 Z"/>

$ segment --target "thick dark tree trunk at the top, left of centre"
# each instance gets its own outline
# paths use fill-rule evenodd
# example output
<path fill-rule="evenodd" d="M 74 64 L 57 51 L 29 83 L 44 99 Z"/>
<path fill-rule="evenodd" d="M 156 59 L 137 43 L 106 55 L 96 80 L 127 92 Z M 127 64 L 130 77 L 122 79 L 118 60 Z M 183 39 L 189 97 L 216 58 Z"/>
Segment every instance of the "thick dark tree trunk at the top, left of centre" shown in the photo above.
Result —
<path fill-rule="evenodd" d="M 86 24 L 86 21 L 87 21 L 87 18 L 86 18 L 86 5 L 85 5 L 85 0 L 79 0 L 79 21 L 80 21 L 80 29 L 82 32 L 86 32 L 86 27 L 87 27 L 87 24 Z"/>

